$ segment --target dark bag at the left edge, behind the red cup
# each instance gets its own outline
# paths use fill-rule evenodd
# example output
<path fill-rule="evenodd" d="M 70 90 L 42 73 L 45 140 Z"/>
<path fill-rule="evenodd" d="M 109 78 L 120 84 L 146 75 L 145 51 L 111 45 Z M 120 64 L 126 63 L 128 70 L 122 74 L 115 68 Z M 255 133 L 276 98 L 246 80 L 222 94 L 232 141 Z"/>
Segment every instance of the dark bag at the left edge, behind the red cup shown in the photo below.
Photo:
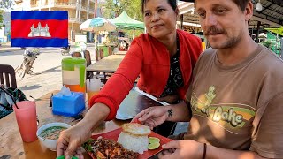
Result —
<path fill-rule="evenodd" d="M 10 114 L 14 102 L 27 101 L 26 95 L 18 88 L 0 87 L 0 119 Z"/>

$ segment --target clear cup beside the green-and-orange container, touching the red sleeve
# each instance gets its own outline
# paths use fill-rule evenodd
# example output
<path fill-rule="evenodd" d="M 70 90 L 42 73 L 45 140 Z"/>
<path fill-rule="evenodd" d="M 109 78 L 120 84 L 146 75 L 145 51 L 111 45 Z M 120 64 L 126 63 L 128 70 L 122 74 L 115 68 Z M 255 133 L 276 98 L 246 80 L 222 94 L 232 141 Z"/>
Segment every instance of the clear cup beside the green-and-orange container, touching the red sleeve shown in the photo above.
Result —
<path fill-rule="evenodd" d="M 102 82 L 100 81 L 100 79 L 87 79 L 88 103 L 92 96 L 99 93 L 101 87 Z"/>

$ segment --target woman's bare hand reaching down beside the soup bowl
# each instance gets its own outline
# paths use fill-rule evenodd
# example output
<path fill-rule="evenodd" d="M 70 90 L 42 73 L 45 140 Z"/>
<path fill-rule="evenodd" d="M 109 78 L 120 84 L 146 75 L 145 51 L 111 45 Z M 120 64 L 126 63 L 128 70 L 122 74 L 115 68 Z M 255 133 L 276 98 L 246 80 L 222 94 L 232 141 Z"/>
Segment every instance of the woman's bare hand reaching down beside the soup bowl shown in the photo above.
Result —
<path fill-rule="evenodd" d="M 68 157 L 71 159 L 72 156 L 76 156 L 79 159 L 83 159 L 80 146 L 88 140 L 90 136 L 91 131 L 87 130 L 80 123 L 61 132 L 57 140 L 57 156 L 65 155 L 66 159 L 68 159 Z"/>

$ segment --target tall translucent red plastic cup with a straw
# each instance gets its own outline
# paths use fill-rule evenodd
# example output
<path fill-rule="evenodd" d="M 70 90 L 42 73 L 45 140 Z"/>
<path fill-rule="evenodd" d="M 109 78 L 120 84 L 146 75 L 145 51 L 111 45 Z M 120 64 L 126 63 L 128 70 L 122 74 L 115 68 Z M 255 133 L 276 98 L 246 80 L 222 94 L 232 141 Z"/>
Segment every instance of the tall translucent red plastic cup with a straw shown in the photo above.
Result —
<path fill-rule="evenodd" d="M 19 133 L 24 142 L 37 140 L 36 131 L 36 105 L 32 101 L 17 102 L 19 109 L 13 105 L 15 111 Z"/>

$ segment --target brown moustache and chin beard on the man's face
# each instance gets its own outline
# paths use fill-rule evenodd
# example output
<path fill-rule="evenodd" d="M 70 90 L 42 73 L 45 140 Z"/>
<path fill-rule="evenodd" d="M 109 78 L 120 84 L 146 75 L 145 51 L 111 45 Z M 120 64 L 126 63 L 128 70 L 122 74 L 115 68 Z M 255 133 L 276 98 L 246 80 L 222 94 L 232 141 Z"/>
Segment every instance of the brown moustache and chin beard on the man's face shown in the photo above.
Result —
<path fill-rule="evenodd" d="M 217 27 L 208 27 L 206 31 L 203 32 L 205 36 L 208 36 L 210 34 L 227 34 L 226 30 L 224 29 L 219 29 Z M 208 38 L 209 39 L 209 38 Z M 233 48 L 238 42 L 241 41 L 241 36 L 233 36 L 233 37 L 228 37 L 228 39 L 225 42 L 222 43 L 217 43 L 216 45 L 213 44 L 213 42 L 210 42 L 210 46 L 213 49 L 228 49 L 228 48 Z"/>

